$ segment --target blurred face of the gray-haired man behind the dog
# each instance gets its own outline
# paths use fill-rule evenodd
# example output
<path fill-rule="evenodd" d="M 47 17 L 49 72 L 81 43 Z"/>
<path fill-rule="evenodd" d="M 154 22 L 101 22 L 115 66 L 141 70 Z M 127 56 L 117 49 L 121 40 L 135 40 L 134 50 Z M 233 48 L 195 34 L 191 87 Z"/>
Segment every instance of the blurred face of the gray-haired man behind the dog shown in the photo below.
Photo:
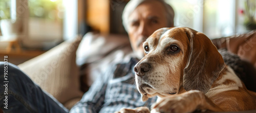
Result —
<path fill-rule="evenodd" d="M 166 11 L 162 3 L 147 1 L 140 4 L 129 17 L 128 34 L 134 53 L 144 57 L 142 42 L 157 29 L 167 27 Z"/>

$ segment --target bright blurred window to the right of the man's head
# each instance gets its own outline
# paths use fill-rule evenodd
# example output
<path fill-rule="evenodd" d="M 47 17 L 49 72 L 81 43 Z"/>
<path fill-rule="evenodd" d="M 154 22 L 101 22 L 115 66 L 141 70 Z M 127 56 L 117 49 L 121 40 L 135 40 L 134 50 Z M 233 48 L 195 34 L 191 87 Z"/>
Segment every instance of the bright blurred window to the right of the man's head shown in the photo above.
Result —
<path fill-rule="evenodd" d="M 175 26 L 190 27 L 209 38 L 246 33 L 239 9 L 245 0 L 180 0 L 166 1 L 175 10 Z M 255 3 L 254 3 L 255 4 Z"/>

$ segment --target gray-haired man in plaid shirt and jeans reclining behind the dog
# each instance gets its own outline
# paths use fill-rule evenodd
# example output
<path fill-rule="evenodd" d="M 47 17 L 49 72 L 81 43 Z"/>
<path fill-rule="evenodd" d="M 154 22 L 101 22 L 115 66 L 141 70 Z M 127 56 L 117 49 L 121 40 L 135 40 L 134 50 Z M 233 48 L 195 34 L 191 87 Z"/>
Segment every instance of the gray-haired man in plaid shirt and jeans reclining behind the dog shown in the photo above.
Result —
<path fill-rule="evenodd" d="M 174 11 L 163 0 L 131 0 L 123 11 L 122 19 L 137 58 L 111 66 L 104 76 L 97 78 L 70 112 L 114 112 L 122 107 L 150 107 L 156 101 L 156 98 L 147 102 L 140 101 L 140 94 L 133 80 L 133 67 L 138 59 L 143 57 L 142 42 L 155 30 L 174 26 Z M 4 64 L 0 63 L 1 69 L 3 66 Z M 12 100 L 9 100 L 8 104 L 16 107 L 3 109 L 5 112 L 68 112 L 56 99 L 35 85 L 18 67 L 9 64 L 8 68 L 11 70 L 9 79 L 13 79 L 12 83 L 15 83 L 11 85 L 15 87 L 13 92 L 8 92 L 14 96 L 9 97 Z M 28 83 L 34 86 L 27 86 Z M 2 86 L 1 89 L 3 88 Z"/>

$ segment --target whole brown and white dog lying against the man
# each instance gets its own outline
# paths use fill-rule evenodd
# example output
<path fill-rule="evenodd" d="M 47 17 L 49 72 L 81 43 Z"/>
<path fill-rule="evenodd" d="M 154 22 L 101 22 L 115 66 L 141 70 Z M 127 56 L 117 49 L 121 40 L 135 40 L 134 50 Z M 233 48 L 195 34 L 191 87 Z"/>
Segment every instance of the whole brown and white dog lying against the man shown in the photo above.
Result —
<path fill-rule="evenodd" d="M 203 33 L 162 28 L 143 43 L 145 56 L 135 65 L 142 100 L 158 96 L 151 112 L 242 111 L 256 109 L 256 93 L 225 65 Z M 119 112 L 150 112 L 146 107 Z"/>

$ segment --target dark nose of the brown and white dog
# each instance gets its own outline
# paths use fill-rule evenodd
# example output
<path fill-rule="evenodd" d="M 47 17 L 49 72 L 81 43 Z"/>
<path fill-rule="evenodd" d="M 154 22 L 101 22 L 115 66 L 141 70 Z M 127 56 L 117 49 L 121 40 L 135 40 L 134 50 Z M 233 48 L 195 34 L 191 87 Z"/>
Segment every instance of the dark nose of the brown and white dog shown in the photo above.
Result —
<path fill-rule="evenodd" d="M 134 71 L 138 76 L 142 77 L 146 72 L 150 71 L 150 67 L 151 65 L 148 63 L 139 63 L 135 65 Z"/>

